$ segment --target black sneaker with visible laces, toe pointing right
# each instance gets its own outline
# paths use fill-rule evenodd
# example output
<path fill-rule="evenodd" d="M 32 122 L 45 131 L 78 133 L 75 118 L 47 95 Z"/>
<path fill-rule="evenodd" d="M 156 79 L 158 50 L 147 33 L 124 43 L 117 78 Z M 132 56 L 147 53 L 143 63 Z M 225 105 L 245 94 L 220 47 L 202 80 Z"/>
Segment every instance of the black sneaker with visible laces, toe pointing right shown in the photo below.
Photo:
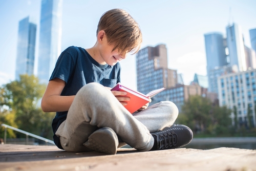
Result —
<path fill-rule="evenodd" d="M 151 133 L 155 139 L 153 150 L 173 149 L 187 145 L 193 139 L 193 132 L 186 125 L 174 124 L 162 131 Z"/>

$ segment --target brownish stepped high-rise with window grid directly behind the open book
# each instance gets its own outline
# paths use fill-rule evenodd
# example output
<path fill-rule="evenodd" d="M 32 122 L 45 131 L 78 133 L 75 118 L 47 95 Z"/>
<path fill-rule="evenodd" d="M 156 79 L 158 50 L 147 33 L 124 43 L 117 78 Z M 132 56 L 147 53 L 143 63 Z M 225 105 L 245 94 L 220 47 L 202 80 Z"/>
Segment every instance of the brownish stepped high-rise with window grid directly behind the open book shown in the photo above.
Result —
<path fill-rule="evenodd" d="M 174 87 L 177 71 L 167 67 L 167 49 L 165 45 L 146 47 L 136 55 L 137 90 L 148 93 L 155 89 Z"/>

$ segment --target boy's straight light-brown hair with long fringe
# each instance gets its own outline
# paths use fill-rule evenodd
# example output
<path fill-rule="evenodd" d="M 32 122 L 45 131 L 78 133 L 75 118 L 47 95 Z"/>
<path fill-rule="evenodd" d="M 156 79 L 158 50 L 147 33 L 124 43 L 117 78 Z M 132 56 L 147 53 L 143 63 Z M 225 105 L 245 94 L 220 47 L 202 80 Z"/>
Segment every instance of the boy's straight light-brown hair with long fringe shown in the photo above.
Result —
<path fill-rule="evenodd" d="M 142 33 L 133 17 L 122 9 L 106 11 L 99 20 L 97 34 L 103 30 L 113 51 L 137 53 L 142 42 Z"/>

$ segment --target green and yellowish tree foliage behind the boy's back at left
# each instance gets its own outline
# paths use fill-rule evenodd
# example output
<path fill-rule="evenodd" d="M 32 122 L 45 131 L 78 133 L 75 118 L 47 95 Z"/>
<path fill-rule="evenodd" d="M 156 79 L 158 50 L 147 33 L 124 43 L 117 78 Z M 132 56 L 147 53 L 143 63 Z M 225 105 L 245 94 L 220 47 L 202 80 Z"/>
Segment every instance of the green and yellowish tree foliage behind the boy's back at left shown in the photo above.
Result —
<path fill-rule="evenodd" d="M 19 80 L 5 84 L 0 92 L 0 121 L 32 134 L 52 138 L 54 113 L 44 113 L 38 105 L 45 89 L 46 86 L 39 84 L 34 75 L 20 75 Z"/>

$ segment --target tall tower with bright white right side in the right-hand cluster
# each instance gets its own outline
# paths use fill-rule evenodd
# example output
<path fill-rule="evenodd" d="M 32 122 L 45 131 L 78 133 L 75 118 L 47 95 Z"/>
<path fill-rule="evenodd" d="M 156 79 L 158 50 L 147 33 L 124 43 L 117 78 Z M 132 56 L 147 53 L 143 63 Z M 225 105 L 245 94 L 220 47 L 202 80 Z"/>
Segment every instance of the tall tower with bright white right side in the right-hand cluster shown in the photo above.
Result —
<path fill-rule="evenodd" d="M 239 71 L 246 71 L 247 68 L 242 29 L 239 25 L 233 23 L 233 25 L 226 27 L 226 31 L 229 64 L 231 66 L 237 65 Z"/>

